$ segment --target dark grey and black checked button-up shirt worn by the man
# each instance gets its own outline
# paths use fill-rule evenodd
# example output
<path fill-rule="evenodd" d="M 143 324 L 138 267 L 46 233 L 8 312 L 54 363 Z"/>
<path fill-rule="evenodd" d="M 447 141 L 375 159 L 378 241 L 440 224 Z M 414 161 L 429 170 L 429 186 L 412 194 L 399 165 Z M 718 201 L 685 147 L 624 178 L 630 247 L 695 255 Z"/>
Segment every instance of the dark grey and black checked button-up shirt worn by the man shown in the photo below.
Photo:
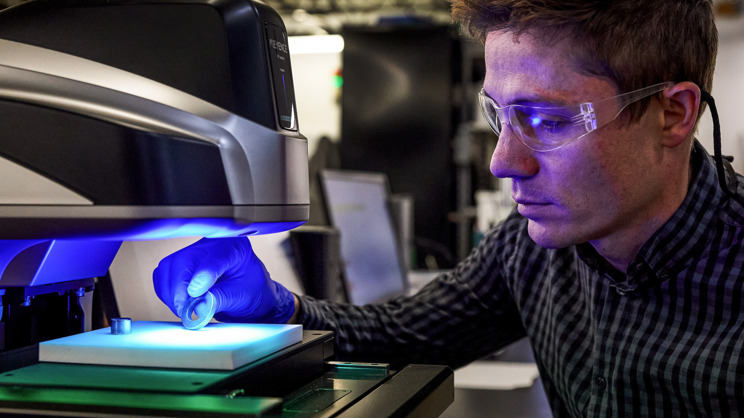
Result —
<path fill-rule="evenodd" d="M 682 205 L 627 274 L 589 243 L 548 249 L 516 210 L 417 295 L 348 306 L 301 298 L 342 356 L 459 367 L 527 335 L 557 417 L 744 411 L 744 177 L 726 198 L 696 142 Z M 742 414 L 744 415 L 744 414 Z"/>

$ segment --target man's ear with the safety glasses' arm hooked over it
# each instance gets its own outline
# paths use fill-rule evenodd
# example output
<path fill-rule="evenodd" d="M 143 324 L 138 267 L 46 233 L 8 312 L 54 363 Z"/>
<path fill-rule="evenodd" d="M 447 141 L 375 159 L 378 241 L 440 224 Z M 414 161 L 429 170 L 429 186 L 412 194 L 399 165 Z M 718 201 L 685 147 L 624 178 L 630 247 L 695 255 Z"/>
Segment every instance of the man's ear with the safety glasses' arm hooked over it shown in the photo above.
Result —
<path fill-rule="evenodd" d="M 700 88 L 690 81 L 677 83 L 661 94 L 661 105 L 664 106 L 664 129 L 661 145 L 677 147 L 695 128 L 700 109 Z"/>

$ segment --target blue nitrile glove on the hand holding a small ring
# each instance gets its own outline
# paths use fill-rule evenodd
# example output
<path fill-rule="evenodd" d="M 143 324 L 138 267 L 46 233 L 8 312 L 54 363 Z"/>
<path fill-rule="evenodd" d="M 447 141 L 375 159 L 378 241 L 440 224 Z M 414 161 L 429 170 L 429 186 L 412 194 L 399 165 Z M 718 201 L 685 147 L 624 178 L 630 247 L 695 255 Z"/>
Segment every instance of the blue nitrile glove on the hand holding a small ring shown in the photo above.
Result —
<path fill-rule="evenodd" d="M 158 298 L 181 316 L 188 298 L 212 292 L 222 322 L 286 324 L 295 296 L 269 277 L 246 237 L 202 238 L 161 260 L 153 271 Z M 196 305 L 196 315 L 207 310 Z"/>

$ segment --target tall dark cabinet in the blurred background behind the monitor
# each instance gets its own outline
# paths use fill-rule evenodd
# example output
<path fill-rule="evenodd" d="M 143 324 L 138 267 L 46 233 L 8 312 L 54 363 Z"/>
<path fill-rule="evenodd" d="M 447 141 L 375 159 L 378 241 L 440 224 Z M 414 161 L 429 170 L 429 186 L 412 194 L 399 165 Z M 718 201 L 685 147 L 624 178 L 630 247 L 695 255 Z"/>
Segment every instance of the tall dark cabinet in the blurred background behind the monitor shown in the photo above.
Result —
<path fill-rule="evenodd" d="M 414 196 L 422 245 L 440 267 L 455 262 L 455 163 L 460 41 L 450 26 L 344 28 L 341 168 L 388 175 Z"/>

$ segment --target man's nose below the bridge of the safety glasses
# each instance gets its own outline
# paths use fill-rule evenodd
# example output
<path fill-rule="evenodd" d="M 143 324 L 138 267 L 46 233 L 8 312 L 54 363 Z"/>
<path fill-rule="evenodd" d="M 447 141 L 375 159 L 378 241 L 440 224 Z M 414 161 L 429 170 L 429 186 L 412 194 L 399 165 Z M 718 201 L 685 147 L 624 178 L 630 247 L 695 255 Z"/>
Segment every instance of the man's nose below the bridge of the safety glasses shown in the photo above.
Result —
<path fill-rule="evenodd" d="M 502 179 L 534 176 L 540 170 L 535 152 L 519 141 L 511 126 L 504 124 L 491 157 L 491 173 Z"/>

